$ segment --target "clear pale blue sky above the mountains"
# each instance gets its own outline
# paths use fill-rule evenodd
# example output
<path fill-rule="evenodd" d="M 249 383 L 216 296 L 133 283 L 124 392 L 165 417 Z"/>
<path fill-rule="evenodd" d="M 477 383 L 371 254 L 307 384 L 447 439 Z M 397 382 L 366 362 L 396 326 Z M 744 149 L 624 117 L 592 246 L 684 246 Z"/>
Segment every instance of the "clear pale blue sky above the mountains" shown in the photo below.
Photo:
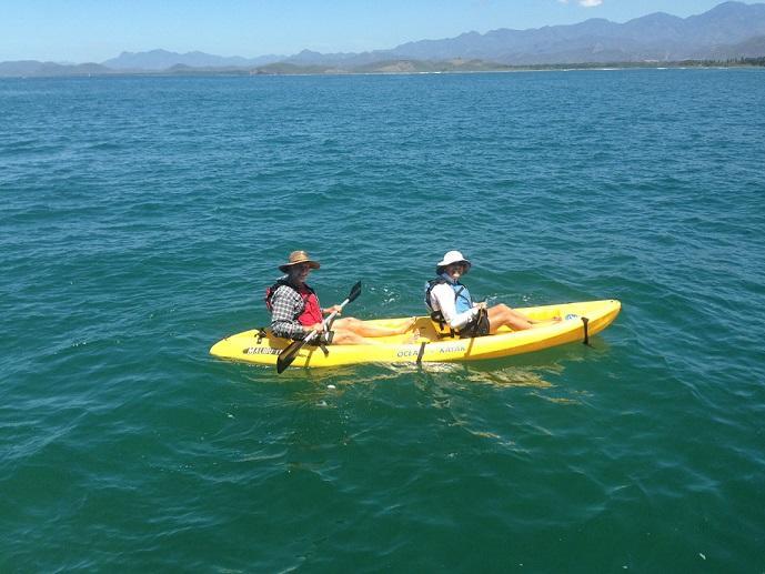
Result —
<path fill-rule="evenodd" d="M 686 18 L 723 0 L 0 0 L 0 61 L 164 49 L 254 58 L 394 48 L 497 28 Z M 752 2 L 747 2 L 752 3 Z"/>

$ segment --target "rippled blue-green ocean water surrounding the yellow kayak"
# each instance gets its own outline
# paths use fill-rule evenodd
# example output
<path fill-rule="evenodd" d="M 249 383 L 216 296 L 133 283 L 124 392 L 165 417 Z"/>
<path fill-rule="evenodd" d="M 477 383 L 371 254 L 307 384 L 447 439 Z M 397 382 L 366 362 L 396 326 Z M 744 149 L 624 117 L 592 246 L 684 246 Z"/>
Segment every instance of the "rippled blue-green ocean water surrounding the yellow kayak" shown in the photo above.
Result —
<path fill-rule="evenodd" d="M 765 572 L 765 71 L 0 80 L 0 571 Z M 295 249 L 592 346 L 220 362 Z"/>

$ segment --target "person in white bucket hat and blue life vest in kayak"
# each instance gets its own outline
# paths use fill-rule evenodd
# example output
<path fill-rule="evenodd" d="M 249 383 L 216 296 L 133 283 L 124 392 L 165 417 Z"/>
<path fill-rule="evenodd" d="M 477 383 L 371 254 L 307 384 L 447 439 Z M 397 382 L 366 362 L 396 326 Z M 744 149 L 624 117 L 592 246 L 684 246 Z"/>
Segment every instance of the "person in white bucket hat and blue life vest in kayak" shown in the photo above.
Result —
<path fill-rule="evenodd" d="M 431 319 L 461 338 L 494 334 L 501 326 L 514 331 L 531 329 L 534 322 L 523 313 L 500 303 L 491 308 L 475 303 L 460 279 L 472 264 L 460 251 L 449 251 L 435 265 L 436 278 L 425 283 L 425 305 Z"/>

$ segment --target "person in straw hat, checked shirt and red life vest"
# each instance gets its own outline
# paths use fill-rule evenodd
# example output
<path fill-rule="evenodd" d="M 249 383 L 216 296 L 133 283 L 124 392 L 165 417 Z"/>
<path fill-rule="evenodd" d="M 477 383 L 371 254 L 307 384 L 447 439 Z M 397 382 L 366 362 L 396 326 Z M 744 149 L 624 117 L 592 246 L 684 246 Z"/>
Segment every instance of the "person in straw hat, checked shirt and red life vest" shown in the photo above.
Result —
<path fill-rule="evenodd" d="M 293 251 L 288 262 L 279 265 L 285 275 L 271 285 L 265 295 L 273 334 L 284 339 L 303 339 L 312 331 L 319 331 L 322 343 L 370 344 L 374 343 L 375 336 L 399 335 L 412 329 L 414 320 L 401 329 L 387 329 L 349 316 L 338 319 L 332 323 L 332 331 L 324 332 L 324 315 L 341 309 L 340 305 L 322 309 L 315 291 L 306 283 L 311 271 L 320 268 L 319 261 L 312 260 L 305 251 Z"/>

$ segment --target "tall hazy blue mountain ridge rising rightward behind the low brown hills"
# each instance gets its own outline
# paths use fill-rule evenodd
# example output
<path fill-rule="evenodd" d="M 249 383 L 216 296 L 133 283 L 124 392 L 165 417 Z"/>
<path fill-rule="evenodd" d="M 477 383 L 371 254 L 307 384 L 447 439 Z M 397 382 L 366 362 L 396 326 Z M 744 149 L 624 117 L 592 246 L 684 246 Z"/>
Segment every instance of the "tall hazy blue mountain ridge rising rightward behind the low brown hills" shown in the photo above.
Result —
<path fill-rule="evenodd" d="M 351 57 L 302 52 L 286 61 L 362 66 L 391 59 L 479 59 L 512 66 L 540 63 L 632 62 L 711 58 L 721 46 L 765 36 L 765 3 L 725 2 L 708 12 L 677 18 L 657 12 L 625 23 L 591 19 L 577 24 L 530 30 L 467 32 L 444 40 L 421 40 L 392 50 Z M 763 56 L 763 54 L 761 54 Z"/>

